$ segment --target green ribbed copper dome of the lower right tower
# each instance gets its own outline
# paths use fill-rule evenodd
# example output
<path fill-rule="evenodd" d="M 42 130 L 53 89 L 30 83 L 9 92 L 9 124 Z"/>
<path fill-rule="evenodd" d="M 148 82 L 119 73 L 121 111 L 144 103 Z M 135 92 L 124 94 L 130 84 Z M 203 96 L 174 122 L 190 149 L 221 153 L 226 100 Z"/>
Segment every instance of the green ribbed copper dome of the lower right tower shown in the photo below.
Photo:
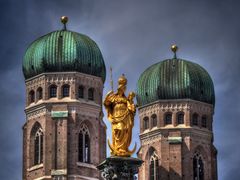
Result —
<path fill-rule="evenodd" d="M 214 105 L 212 79 L 200 65 L 183 59 L 167 59 L 147 68 L 137 84 L 140 106 L 157 100 L 193 99 Z"/>

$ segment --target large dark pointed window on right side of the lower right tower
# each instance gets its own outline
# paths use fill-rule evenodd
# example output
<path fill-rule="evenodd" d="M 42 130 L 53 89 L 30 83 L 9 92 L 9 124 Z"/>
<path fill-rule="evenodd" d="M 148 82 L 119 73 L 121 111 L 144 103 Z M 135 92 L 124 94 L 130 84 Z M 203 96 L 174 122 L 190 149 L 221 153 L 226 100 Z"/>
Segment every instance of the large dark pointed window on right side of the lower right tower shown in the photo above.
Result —
<path fill-rule="evenodd" d="M 204 180 L 204 163 L 198 153 L 193 157 L 193 180 Z"/>

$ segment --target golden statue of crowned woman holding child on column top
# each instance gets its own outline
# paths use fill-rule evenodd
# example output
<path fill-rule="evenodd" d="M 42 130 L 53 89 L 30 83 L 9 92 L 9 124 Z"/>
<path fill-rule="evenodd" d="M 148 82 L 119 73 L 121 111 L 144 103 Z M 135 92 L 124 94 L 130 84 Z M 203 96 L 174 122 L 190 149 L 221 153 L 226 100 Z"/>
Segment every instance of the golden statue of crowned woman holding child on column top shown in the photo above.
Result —
<path fill-rule="evenodd" d="M 122 75 L 118 79 L 117 92 L 108 92 L 104 99 L 108 120 L 112 124 L 112 144 L 108 139 L 108 146 L 113 156 L 128 157 L 136 150 L 136 144 L 133 150 L 128 149 L 132 141 L 136 105 L 133 100 L 134 92 L 130 92 L 128 97 L 125 96 L 126 85 L 127 79 Z"/>

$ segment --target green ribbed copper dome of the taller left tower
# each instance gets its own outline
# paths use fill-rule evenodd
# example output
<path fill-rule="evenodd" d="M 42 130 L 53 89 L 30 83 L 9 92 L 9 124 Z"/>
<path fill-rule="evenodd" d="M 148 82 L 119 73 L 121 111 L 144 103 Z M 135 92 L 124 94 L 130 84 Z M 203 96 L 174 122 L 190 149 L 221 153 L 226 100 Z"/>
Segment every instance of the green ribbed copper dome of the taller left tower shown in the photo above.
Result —
<path fill-rule="evenodd" d="M 25 79 L 44 72 L 77 71 L 106 77 L 100 49 L 88 36 L 68 30 L 51 32 L 35 40 L 23 60 Z"/>

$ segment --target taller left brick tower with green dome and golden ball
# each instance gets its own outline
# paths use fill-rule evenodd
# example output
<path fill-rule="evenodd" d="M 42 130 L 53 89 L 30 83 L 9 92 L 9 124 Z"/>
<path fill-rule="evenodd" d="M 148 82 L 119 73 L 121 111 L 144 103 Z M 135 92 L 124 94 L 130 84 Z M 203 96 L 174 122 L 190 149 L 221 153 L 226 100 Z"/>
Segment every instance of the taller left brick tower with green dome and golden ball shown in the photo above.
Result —
<path fill-rule="evenodd" d="M 28 47 L 23 73 L 23 179 L 101 179 L 96 165 L 106 157 L 106 70 L 96 43 L 64 24 Z"/>

